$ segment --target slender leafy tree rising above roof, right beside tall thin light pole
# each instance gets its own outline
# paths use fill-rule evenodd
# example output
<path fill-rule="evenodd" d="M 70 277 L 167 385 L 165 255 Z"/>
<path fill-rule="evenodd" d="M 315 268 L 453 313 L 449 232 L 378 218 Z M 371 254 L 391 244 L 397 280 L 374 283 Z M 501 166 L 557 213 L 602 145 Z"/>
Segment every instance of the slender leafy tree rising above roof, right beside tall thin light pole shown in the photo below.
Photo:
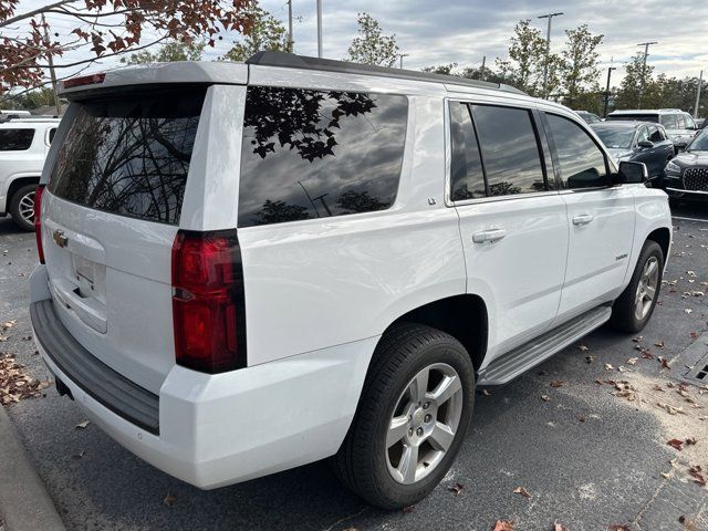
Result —
<path fill-rule="evenodd" d="M 565 37 L 559 74 L 565 92 L 565 105 L 573 107 L 581 94 L 600 92 L 597 46 L 604 35 L 593 35 L 587 24 L 582 24 L 574 30 L 565 30 Z"/>

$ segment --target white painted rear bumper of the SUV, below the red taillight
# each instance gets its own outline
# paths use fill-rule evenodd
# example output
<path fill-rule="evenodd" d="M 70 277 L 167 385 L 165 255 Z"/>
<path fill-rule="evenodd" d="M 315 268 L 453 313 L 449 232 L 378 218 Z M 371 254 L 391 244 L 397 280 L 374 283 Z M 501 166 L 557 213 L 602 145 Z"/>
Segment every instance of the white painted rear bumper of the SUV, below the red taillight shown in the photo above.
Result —
<path fill-rule="evenodd" d="M 157 397 L 156 434 L 127 419 L 115 404 L 106 405 L 105 396 L 88 388 L 86 379 L 67 374 L 70 368 L 56 352 L 48 351 L 54 346 L 46 340 L 46 330 L 41 330 L 34 315 L 32 321 L 42 358 L 87 418 L 147 462 L 202 489 L 334 455 L 356 410 L 377 341 L 373 337 L 219 375 L 175 366 Z"/>

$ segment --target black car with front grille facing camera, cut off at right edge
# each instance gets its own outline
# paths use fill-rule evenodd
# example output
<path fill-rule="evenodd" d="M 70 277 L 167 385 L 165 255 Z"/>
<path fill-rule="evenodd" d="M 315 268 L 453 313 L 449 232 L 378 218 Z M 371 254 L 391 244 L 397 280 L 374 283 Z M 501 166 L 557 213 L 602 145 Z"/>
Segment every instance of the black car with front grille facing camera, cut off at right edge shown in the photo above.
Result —
<path fill-rule="evenodd" d="M 708 200 L 708 129 L 666 165 L 666 192 L 676 200 Z"/>

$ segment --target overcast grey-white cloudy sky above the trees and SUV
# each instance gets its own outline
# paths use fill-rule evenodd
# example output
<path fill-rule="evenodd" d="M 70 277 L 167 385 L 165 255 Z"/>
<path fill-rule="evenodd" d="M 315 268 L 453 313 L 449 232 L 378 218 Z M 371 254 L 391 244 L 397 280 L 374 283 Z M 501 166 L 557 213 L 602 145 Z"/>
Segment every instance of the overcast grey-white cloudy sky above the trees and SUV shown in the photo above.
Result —
<path fill-rule="evenodd" d="M 49 0 L 20 0 L 18 12 L 48 3 Z M 262 0 L 261 6 L 277 19 L 287 23 L 285 0 Z M 316 55 L 315 0 L 293 0 L 295 52 Z M 639 51 L 644 41 L 658 41 L 649 50 L 649 62 L 656 72 L 679 77 L 708 74 L 708 0 L 565 0 L 565 1 L 429 1 L 429 0 L 323 0 L 324 56 L 343 59 L 356 34 L 356 15 L 367 12 L 377 19 L 386 34 L 395 33 L 405 67 L 456 62 L 460 66 L 488 65 L 496 58 L 504 58 L 513 27 L 520 19 L 532 19 L 532 24 L 545 34 L 545 20 L 539 14 L 563 11 L 553 19 L 552 48 L 562 46 L 563 30 L 587 23 L 593 33 L 603 33 L 600 48 L 601 66 L 606 69 L 611 59 L 616 66 Z M 58 31 L 67 31 L 66 20 L 53 20 Z M 230 35 L 216 50 L 207 49 L 207 59 L 215 59 L 228 50 Z M 83 52 L 87 53 L 87 52 Z M 74 56 L 71 56 L 73 60 Z M 108 67 L 115 61 L 106 60 Z M 613 81 L 622 77 L 622 69 Z M 604 76 L 603 76 L 604 81 Z M 613 85 L 615 83 L 613 82 Z"/>

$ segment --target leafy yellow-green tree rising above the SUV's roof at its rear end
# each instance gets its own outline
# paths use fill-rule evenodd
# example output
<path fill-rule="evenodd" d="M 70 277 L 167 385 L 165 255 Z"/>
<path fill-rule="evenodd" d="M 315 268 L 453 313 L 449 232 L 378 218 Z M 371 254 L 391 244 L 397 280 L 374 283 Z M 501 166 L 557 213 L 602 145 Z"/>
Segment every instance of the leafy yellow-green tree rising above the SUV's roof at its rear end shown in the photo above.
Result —
<path fill-rule="evenodd" d="M 251 20 L 249 29 L 222 59 L 242 62 L 261 51 L 292 52 L 288 30 L 278 19 L 256 4 L 251 6 L 248 14 Z"/>

